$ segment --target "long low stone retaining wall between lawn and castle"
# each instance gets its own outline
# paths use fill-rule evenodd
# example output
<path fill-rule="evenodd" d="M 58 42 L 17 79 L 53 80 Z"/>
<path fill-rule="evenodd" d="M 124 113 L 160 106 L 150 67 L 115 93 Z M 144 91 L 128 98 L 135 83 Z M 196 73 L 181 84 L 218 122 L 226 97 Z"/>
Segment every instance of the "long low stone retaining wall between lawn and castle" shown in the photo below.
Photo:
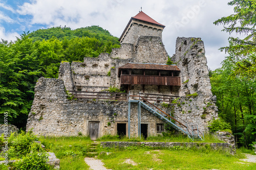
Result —
<path fill-rule="evenodd" d="M 221 150 L 233 154 L 231 145 L 229 143 L 196 143 L 196 142 L 122 142 L 122 141 L 104 141 L 100 142 L 103 148 L 126 148 L 131 146 L 146 146 L 152 148 L 173 148 L 173 147 L 186 147 L 186 148 L 207 148 L 208 145 L 213 150 Z"/>

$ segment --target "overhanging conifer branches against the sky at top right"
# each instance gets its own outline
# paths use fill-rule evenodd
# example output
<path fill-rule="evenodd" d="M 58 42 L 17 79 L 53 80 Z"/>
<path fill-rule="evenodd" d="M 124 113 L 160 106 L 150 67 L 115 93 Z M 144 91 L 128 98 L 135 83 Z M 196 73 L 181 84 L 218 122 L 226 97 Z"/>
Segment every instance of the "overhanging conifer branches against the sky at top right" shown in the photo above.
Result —
<path fill-rule="evenodd" d="M 214 22 L 215 25 L 228 25 L 222 31 L 243 35 L 229 37 L 229 46 L 220 48 L 221 51 L 232 55 L 229 60 L 234 65 L 235 75 L 255 78 L 256 75 L 256 1 L 234 0 L 228 3 L 234 6 L 234 14 L 222 17 Z"/>

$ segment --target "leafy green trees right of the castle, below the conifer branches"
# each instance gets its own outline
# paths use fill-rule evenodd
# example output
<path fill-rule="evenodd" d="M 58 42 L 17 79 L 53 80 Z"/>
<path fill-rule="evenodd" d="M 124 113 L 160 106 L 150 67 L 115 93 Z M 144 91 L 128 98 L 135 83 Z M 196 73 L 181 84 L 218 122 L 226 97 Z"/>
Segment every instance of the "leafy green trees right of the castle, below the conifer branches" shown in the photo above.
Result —
<path fill-rule="evenodd" d="M 212 71 L 212 93 L 217 96 L 219 116 L 230 123 L 232 132 L 238 139 L 237 144 L 248 147 L 256 136 L 256 81 L 232 76 L 234 71 L 233 62 L 228 58 L 222 62 L 221 68 Z"/>

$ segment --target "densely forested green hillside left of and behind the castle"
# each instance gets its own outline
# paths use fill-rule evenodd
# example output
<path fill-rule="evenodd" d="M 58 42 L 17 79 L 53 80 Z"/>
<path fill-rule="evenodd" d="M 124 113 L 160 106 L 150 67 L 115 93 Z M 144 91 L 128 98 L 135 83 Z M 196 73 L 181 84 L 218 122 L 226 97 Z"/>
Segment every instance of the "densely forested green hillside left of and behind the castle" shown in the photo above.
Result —
<path fill-rule="evenodd" d="M 83 61 L 111 53 L 118 38 L 98 26 L 68 27 L 24 33 L 14 42 L 0 42 L 0 123 L 8 112 L 9 123 L 24 127 L 38 78 L 58 78 L 61 61 Z"/>

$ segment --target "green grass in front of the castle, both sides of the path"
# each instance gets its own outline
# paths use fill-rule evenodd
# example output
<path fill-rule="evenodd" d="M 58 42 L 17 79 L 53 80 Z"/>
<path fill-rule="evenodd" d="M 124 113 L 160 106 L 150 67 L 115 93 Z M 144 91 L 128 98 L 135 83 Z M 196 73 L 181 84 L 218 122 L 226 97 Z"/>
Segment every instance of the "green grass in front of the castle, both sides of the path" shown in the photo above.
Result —
<path fill-rule="evenodd" d="M 107 141 L 107 138 L 108 141 L 114 141 L 116 137 L 105 136 L 98 140 Z M 181 137 L 176 137 L 175 141 L 180 141 L 178 138 Z M 83 160 L 93 142 L 89 137 L 40 137 L 39 140 L 49 152 L 54 152 L 60 159 L 60 170 L 89 169 Z M 123 139 L 123 141 L 126 140 L 128 139 Z M 137 140 L 139 139 L 129 139 L 129 141 Z M 162 138 L 160 141 L 163 140 L 165 139 Z M 182 139 L 183 142 L 189 142 L 186 140 L 187 138 Z M 207 140 L 212 142 L 215 139 L 209 136 Z M 105 167 L 110 169 L 256 169 L 256 163 L 239 160 L 245 158 L 241 154 L 242 150 L 238 150 L 238 154 L 235 156 L 206 148 L 202 150 L 186 148 L 153 150 L 147 147 L 128 147 L 126 149 L 98 147 L 97 152 L 102 151 L 113 153 L 108 156 L 98 156 L 98 159 L 102 159 L 104 162 Z"/>

